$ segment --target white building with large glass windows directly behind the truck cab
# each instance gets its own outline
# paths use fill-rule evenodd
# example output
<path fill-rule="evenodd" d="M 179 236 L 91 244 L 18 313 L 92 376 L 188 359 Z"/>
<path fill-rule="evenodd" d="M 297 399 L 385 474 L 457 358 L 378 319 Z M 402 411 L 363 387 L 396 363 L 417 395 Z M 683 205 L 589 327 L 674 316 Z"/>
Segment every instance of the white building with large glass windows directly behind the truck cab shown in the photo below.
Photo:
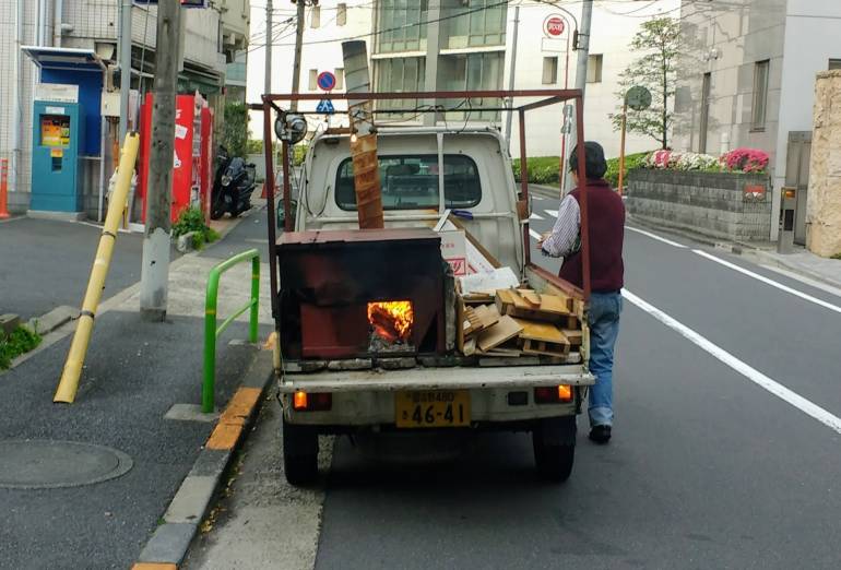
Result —
<path fill-rule="evenodd" d="M 628 44 L 639 24 L 647 19 L 676 16 L 680 0 L 628 4 L 627 1 L 605 0 L 596 2 L 593 11 L 585 132 L 588 139 L 603 143 L 608 156 L 619 152 L 619 135 L 608 117 L 619 105 L 616 94 L 619 74 L 639 57 L 629 52 Z M 303 92 L 317 93 L 319 73 L 342 74 L 341 40 L 348 38 L 367 41 L 376 91 L 504 90 L 511 85 L 512 67 L 514 88 L 572 87 L 577 60 L 577 54 L 571 49 L 572 31 L 581 19 L 581 3 L 570 3 L 569 10 L 562 10 L 564 5 L 561 3 L 559 9 L 531 0 L 321 0 L 319 5 L 307 8 L 300 87 Z M 517 12 L 519 17 L 516 19 Z M 544 25 L 553 15 L 565 20 L 564 32 L 558 37 L 544 33 Z M 274 17 L 280 24 L 274 29 L 273 58 L 277 63 L 272 86 L 275 93 L 288 93 L 292 87 L 289 61 L 294 57 L 294 24 L 289 19 L 294 19 L 294 7 L 281 10 L 280 16 L 275 14 Z M 264 15 L 256 10 L 252 20 L 264 22 Z M 264 25 L 258 25 L 256 29 L 264 29 Z M 262 49 L 251 54 L 248 97 L 252 102 L 259 100 L 262 93 L 263 57 Z M 341 85 L 340 78 L 339 88 Z M 413 109 L 424 103 L 428 102 L 398 100 L 389 105 Z M 438 103 L 448 107 L 462 104 L 458 112 L 448 114 L 448 122 L 483 122 L 506 129 L 505 112 L 483 109 L 499 106 L 498 100 Z M 303 104 L 301 108 L 313 110 L 315 105 Z M 412 114 L 398 118 L 422 120 Z M 526 120 L 528 154 L 559 155 L 561 106 L 532 111 Z M 311 120 L 310 127 L 316 128 L 317 122 Z M 339 119 L 333 122 L 337 123 Z M 512 131 L 517 133 L 516 117 L 512 122 Z M 251 131 L 256 136 L 260 136 L 261 124 L 261 119 L 254 116 Z M 629 152 L 653 150 L 656 144 L 643 136 L 630 135 L 628 139 Z M 519 153 L 516 134 L 511 136 L 511 152 Z"/>

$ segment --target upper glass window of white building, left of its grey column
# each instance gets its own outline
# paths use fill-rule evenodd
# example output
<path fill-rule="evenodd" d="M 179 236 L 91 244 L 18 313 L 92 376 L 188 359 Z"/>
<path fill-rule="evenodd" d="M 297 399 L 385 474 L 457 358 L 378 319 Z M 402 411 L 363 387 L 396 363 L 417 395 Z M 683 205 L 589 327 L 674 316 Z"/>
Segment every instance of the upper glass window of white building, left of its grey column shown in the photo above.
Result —
<path fill-rule="evenodd" d="M 426 51 L 427 0 L 377 2 L 377 52 Z"/>

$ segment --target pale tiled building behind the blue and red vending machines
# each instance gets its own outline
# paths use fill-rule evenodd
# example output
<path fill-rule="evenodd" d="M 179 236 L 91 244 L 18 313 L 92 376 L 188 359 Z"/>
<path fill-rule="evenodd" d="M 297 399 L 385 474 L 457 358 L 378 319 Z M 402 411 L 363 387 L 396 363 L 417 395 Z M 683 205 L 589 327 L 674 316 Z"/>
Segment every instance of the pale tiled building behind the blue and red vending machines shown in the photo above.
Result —
<path fill-rule="evenodd" d="M 204 9 L 183 10 L 182 56 L 179 93 L 199 91 L 212 106 L 224 103 L 227 66 L 247 50 L 249 0 L 215 0 Z M 98 93 L 86 115 L 97 116 L 105 124 L 107 139 L 86 144 L 81 156 L 83 209 L 88 216 L 97 213 L 96 194 L 102 177 L 99 162 L 111 173 L 112 140 L 116 120 L 106 121 L 99 105 L 105 94 L 119 91 L 118 67 L 121 0 L 5 0 L 0 2 L 0 73 L 15 78 L 0 85 L 0 158 L 10 165 L 10 209 L 22 213 L 31 198 L 33 157 L 33 99 L 43 72 L 22 51 L 24 46 L 86 50 L 96 55 L 102 80 Z M 155 5 L 137 2 L 132 11 L 131 88 L 138 95 L 153 90 L 156 45 Z M 72 83 L 73 76 L 67 76 Z M 244 88 L 244 75 L 234 86 Z M 244 98 L 244 97 L 242 97 Z M 137 104 L 132 105 L 137 108 Z M 218 115 L 218 114 L 217 114 Z M 91 136 L 87 138 L 91 141 Z M 106 178 L 107 182 L 107 178 Z M 95 216 L 94 216 L 95 217 Z"/>

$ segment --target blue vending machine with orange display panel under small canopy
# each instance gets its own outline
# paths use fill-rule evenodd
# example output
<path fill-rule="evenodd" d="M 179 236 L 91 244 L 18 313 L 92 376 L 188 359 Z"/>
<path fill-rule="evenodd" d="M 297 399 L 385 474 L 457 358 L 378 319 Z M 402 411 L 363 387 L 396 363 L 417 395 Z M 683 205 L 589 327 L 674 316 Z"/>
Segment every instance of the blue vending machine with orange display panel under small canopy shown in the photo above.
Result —
<path fill-rule="evenodd" d="M 31 210 L 82 211 L 79 156 L 84 122 L 79 103 L 35 100 Z"/>

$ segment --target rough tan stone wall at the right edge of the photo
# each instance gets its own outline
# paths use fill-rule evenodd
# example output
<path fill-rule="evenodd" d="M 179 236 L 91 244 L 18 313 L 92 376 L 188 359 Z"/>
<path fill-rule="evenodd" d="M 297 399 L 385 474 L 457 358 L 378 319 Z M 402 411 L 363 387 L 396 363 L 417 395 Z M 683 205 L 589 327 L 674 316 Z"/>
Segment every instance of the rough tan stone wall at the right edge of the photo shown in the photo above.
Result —
<path fill-rule="evenodd" d="M 841 71 L 818 74 L 806 203 L 806 247 L 841 253 Z"/>

